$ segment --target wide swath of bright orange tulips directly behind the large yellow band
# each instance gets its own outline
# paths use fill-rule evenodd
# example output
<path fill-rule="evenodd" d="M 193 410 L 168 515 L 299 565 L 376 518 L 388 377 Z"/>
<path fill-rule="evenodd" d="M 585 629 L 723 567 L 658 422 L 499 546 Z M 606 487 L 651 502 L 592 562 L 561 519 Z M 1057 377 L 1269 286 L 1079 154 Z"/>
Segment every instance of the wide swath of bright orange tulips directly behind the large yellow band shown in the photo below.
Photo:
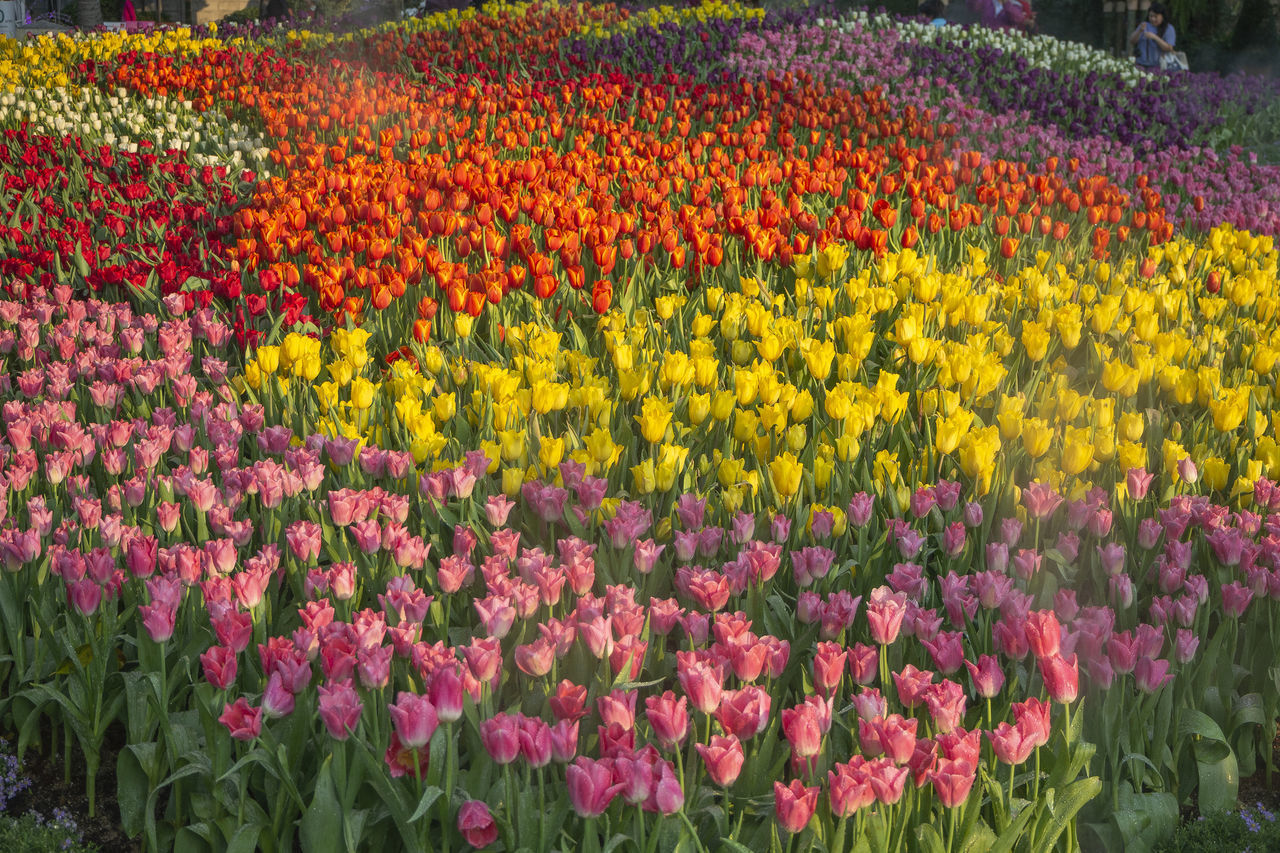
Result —
<path fill-rule="evenodd" d="M 275 91 L 257 92 L 268 77 Z M 311 318 L 340 324 L 372 307 L 392 328 L 421 320 L 425 341 L 486 304 L 509 324 L 500 309 L 512 291 L 544 301 L 564 282 L 558 305 L 603 313 L 616 289 L 643 292 L 655 268 L 695 287 L 835 241 L 882 254 L 957 232 L 952 257 L 961 238 L 1010 256 L 1018 234 L 1061 242 L 1074 222 L 1105 257 L 1172 229 L 1155 193 L 1076 179 L 1071 164 L 1042 175 L 977 152 L 957 164 L 938 140 L 945 127 L 895 115 L 873 92 L 785 78 L 682 86 L 672 101 L 666 85 L 590 78 L 559 95 L 559 82 L 375 88 L 347 77 L 269 54 L 251 64 L 230 49 L 206 64 L 152 59 L 108 76 L 196 104 L 225 93 L 252 102 L 270 133 L 293 136 L 280 160 L 306 168 L 260 183 L 233 219 L 232 256 L 257 298 L 250 314 L 301 295 Z M 344 110 L 328 105 L 334 91 Z M 1082 209 L 1083 220 L 1068 215 Z M 422 296 L 402 298 L 410 288 Z"/>

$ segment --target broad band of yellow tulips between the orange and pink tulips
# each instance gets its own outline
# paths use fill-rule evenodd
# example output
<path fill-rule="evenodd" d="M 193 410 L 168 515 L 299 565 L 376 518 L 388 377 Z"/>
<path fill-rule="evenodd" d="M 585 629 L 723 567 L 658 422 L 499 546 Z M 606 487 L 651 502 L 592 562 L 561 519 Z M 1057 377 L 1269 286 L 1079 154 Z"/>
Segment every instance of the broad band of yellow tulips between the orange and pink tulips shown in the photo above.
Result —
<path fill-rule="evenodd" d="M 1042 254 L 1004 278 L 979 248 L 950 273 L 910 250 L 850 266 L 829 247 L 768 280 L 614 310 L 585 346 L 539 320 L 508 327 L 492 360 L 431 346 L 383 375 L 365 332 L 335 332 L 323 364 L 291 336 L 279 366 L 262 347 L 246 379 L 319 377 L 320 430 L 435 467 L 483 448 L 509 493 L 566 460 L 632 496 L 728 510 L 860 489 L 901 503 L 942 476 L 1082 494 L 1139 466 L 1189 488 L 1187 459 L 1194 488 L 1247 501 L 1280 474 L 1270 240 L 1224 227 L 1115 268 Z"/>

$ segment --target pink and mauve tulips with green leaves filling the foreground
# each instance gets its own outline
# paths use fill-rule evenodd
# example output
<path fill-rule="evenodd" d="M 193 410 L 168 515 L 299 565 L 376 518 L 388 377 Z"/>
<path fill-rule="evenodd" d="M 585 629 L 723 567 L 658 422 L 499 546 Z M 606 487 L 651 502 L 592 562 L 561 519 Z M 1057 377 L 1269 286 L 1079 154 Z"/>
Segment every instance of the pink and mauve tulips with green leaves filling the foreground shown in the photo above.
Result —
<path fill-rule="evenodd" d="M 19 743 L 58 721 L 91 771 L 123 721 L 123 818 L 157 847 L 1048 849 L 1103 781 L 1119 803 L 1229 779 L 1274 702 L 1224 666 L 1270 653 L 1235 646 L 1274 617 L 1270 521 L 1156 512 L 1142 469 L 1119 506 L 938 479 L 808 520 L 686 492 L 659 519 L 567 461 L 512 500 L 485 451 L 417 474 L 296 441 L 227 384 L 209 309 L 26 296 L 0 314 L 9 712 Z M 342 346 L 361 359 L 362 336 Z M 1258 480 L 1253 506 L 1272 496 Z M 1220 722 L 1188 707 L 1210 690 Z M 1108 733 L 1126 717 L 1103 708 L 1134 703 L 1157 725 Z M 1080 777 L 1085 731 L 1111 736 Z"/>

